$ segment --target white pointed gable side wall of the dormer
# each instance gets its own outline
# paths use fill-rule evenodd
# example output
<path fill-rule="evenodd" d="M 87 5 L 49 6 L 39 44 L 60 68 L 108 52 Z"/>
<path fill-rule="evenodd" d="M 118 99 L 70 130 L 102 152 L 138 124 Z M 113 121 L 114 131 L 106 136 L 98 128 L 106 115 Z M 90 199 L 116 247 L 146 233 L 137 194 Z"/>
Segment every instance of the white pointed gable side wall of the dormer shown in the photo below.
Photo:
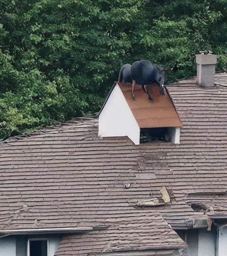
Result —
<path fill-rule="evenodd" d="M 118 84 L 99 115 L 98 136 L 128 136 L 134 144 L 140 144 L 140 127 Z"/>

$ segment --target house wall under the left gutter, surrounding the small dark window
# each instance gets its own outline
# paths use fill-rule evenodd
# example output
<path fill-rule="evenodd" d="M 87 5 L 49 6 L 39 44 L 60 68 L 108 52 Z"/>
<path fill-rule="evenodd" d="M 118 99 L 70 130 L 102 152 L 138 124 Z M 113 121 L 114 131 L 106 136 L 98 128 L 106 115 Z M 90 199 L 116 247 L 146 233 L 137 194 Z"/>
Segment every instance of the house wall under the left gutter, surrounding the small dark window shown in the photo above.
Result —
<path fill-rule="evenodd" d="M 49 256 L 54 256 L 61 235 L 49 236 L 8 236 L 0 238 L 0 256 L 27 256 L 27 238 L 48 238 L 49 239 Z"/>

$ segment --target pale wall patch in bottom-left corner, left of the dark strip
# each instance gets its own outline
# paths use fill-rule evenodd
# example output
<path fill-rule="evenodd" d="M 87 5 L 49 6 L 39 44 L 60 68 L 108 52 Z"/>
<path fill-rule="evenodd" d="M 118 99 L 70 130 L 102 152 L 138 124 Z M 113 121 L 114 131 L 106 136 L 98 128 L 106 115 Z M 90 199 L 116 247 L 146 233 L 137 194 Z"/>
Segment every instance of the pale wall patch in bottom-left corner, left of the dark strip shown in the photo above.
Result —
<path fill-rule="evenodd" d="M 16 256 L 16 237 L 0 238 L 0 256 Z"/>

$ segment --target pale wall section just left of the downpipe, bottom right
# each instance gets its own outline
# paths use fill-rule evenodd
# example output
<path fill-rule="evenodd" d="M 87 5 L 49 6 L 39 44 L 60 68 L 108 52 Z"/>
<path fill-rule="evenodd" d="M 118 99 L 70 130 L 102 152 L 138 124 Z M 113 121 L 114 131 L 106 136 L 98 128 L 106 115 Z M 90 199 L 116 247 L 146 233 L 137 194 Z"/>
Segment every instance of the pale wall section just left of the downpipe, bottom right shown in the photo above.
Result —
<path fill-rule="evenodd" d="M 215 253 L 216 253 L 215 230 L 207 231 L 206 228 L 199 229 L 198 256 L 215 256 Z"/>

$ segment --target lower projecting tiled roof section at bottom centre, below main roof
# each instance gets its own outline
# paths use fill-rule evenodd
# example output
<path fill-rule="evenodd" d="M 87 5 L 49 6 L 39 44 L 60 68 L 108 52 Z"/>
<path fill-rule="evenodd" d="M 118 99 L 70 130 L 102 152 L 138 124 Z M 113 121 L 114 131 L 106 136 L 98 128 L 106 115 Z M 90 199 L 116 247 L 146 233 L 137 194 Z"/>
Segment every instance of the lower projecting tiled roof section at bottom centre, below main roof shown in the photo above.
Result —
<path fill-rule="evenodd" d="M 91 252 L 94 254 L 136 250 L 169 250 L 179 248 L 179 246 L 185 248 L 184 242 L 176 232 L 168 227 L 159 214 L 155 212 L 147 214 L 143 211 L 141 214 L 124 216 L 121 220 L 114 221 L 113 225 L 106 230 L 95 230 L 80 236 L 64 236 L 55 256 L 72 254 L 86 256 Z"/>

